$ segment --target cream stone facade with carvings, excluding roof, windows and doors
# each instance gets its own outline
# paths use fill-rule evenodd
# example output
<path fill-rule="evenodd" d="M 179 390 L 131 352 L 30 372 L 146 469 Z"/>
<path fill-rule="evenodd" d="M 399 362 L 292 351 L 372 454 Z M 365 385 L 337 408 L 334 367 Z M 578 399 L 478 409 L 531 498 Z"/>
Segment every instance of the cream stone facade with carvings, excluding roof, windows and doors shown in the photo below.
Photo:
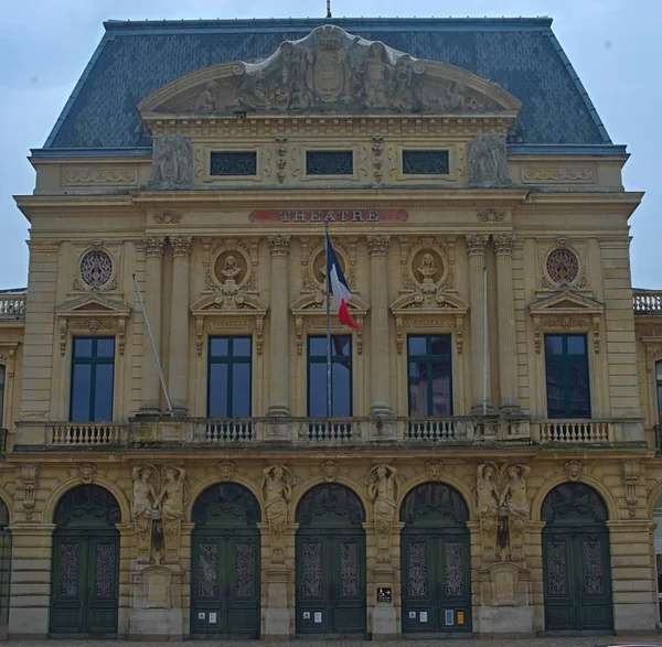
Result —
<path fill-rule="evenodd" d="M 145 99 L 151 159 L 33 160 L 35 194 L 17 198 L 32 224 L 28 295 L 0 299 L 11 636 L 51 632 L 56 508 L 82 485 L 119 509 L 117 634 L 194 633 L 193 508 L 218 483 L 259 502 L 264 638 L 297 633 L 297 510 L 324 483 L 363 506 L 373 637 L 406 633 L 401 508 L 426 483 L 467 506 L 474 635 L 545 632 L 543 504 L 564 483 L 606 506 L 613 630 L 655 630 L 662 308 L 632 306 L 641 194 L 622 190 L 616 150 L 509 152 L 519 109 L 476 75 L 327 26 Z M 307 173 L 307 151 L 339 148 L 351 173 Z M 403 172 L 404 151 L 429 150 L 448 152 L 446 173 Z M 255 152 L 255 171 L 212 173 L 217 151 Z M 352 338 L 343 420 L 308 418 L 325 223 L 360 325 L 331 317 Z M 554 333 L 585 335 L 588 420 L 547 417 Z M 250 417 L 210 419 L 209 338 L 237 334 L 250 337 Z M 412 334 L 450 335 L 451 416 L 410 416 Z M 111 421 L 70 422 L 77 337 L 115 339 Z"/>

